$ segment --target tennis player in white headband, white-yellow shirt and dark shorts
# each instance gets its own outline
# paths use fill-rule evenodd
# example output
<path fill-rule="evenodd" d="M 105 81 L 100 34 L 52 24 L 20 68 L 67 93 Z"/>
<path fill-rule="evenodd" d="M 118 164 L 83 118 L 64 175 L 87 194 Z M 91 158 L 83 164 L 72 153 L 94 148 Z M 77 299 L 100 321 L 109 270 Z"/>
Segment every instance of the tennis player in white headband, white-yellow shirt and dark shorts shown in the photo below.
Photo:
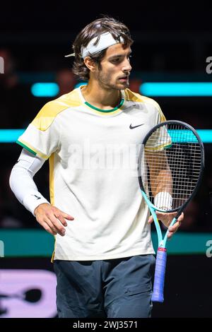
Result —
<path fill-rule="evenodd" d="M 18 138 L 23 150 L 10 186 L 55 235 L 59 317 L 151 316 L 153 220 L 137 156 L 143 137 L 165 117 L 157 102 L 128 88 L 132 43 L 114 18 L 83 28 L 69 55 L 88 85 L 48 102 Z M 33 181 L 47 159 L 51 203 Z M 173 213 L 158 218 L 168 227 Z"/>

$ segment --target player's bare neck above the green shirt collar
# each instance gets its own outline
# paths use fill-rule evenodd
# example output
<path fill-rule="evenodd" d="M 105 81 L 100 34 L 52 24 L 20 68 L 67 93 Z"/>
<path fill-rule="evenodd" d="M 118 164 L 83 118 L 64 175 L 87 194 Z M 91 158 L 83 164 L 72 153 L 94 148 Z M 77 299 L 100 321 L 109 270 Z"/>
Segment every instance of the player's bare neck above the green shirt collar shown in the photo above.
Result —
<path fill-rule="evenodd" d="M 112 109 L 119 105 L 122 99 L 120 90 L 106 90 L 90 82 L 82 88 L 81 92 L 86 102 L 100 109 Z"/>

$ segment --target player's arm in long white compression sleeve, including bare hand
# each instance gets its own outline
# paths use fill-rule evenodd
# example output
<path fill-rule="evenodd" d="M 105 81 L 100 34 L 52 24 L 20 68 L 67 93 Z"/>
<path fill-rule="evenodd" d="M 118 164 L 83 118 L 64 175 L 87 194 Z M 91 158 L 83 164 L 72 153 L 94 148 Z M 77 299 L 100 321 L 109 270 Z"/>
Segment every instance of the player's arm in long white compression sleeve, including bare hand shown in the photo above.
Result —
<path fill-rule="evenodd" d="M 34 175 L 45 160 L 33 155 L 28 150 L 23 149 L 18 158 L 18 162 L 11 171 L 9 183 L 11 190 L 18 201 L 25 206 L 42 227 L 52 235 L 57 233 L 65 235 L 66 220 L 73 220 L 71 215 L 60 211 L 59 208 L 52 206 L 45 197 L 37 190 L 33 180 Z"/>

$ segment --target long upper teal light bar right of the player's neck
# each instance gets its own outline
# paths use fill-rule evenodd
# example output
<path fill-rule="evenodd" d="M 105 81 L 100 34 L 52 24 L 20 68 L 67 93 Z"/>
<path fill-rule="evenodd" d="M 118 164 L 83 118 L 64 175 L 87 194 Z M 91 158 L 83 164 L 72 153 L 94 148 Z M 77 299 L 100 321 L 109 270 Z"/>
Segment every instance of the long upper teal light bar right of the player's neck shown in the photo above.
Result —
<path fill-rule="evenodd" d="M 140 93 L 152 97 L 208 97 L 212 96 L 211 82 L 148 82 L 140 85 Z"/>

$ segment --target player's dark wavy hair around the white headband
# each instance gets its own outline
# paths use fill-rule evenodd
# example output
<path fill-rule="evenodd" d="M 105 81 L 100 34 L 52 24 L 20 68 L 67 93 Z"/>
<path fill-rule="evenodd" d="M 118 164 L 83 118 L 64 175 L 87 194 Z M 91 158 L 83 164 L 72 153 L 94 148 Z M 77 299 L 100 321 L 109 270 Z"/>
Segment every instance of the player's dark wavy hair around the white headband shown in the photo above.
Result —
<path fill-rule="evenodd" d="M 114 18 L 103 16 L 102 18 L 98 18 L 86 25 L 86 27 L 78 33 L 76 40 L 73 42 L 73 51 L 75 54 L 73 73 L 83 81 L 89 80 L 90 71 L 84 64 L 84 60 L 81 56 L 81 47 L 86 47 L 94 37 L 98 37 L 95 45 L 98 44 L 100 35 L 105 32 L 110 32 L 112 37 L 114 37 L 114 40 L 120 41 L 120 37 L 122 37 L 124 40 L 124 47 L 128 47 L 133 43 L 129 29 L 126 25 Z M 100 62 L 105 56 L 106 50 L 107 49 L 103 49 L 98 53 L 90 54 L 90 58 L 98 64 L 99 69 L 101 68 Z"/>

